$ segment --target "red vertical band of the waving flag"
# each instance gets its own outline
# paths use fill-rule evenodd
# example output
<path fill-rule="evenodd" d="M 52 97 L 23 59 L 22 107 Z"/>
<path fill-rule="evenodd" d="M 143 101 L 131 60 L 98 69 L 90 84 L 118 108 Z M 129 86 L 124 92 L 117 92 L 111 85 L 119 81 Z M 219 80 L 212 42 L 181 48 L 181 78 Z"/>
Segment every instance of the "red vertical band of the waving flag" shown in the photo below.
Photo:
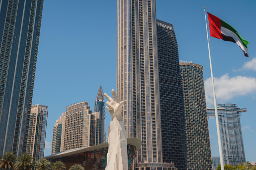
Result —
<path fill-rule="evenodd" d="M 221 27 L 220 19 L 210 13 L 207 13 L 207 14 L 208 14 L 208 21 L 209 21 L 210 36 L 223 40 L 220 32 L 220 27 Z"/>

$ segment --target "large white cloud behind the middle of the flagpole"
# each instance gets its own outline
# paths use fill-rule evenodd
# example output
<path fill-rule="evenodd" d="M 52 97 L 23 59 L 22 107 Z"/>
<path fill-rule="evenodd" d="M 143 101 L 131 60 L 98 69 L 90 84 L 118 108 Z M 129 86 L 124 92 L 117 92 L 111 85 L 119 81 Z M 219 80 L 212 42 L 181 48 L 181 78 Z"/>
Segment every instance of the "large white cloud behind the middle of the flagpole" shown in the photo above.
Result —
<path fill-rule="evenodd" d="M 208 78 L 204 82 L 207 106 L 213 105 L 212 80 Z M 256 92 L 256 78 L 235 76 L 229 77 L 226 73 L 219 78 L 214 78 L 216 100 L 224 103 L 234 97 L 245 96 Z"/>

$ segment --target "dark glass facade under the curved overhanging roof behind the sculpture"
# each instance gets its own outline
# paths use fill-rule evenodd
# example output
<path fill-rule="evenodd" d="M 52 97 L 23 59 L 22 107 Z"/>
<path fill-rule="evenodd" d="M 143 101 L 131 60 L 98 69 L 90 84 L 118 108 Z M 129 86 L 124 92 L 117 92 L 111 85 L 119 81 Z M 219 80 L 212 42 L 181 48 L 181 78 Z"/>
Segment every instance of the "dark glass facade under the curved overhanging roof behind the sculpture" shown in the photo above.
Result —
<path fill-rule="evenodd" d="M 107 145 L 107 143 L 104 143 Z M 76 154 L 69 154 L 65 156 L 59 156 L 55 158 L 49 158 L 50 162 L 62 161 L 66 165 L 66 169 L 69 169 L 74 164 L 81 164 L 84 169 L 105 169 L 107 166 L 107 153 L 108 146 L 97 148 L 94 150 L 84 151 Z M 82 148 L 81 148 L 82 149 Z M 127 145 L 128 151 L 128 170 L 132 169 L 133 158 L 135 155 L 136 146 L 132 144 Z M 70 151 L 70 150 L 68 150 Z"/>

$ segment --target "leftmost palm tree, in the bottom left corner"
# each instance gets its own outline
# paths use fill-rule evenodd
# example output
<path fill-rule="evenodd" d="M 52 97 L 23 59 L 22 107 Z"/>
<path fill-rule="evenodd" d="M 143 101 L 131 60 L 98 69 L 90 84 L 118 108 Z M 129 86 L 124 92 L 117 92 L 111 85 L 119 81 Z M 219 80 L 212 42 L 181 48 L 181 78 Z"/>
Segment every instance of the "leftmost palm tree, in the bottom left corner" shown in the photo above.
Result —
<path fill-rule="evenodd" d="M 6 152 L 2 159 L 0 159 L 0 169 L 11 169 L 14 166 L 16 155 L 12 151 Z"/>

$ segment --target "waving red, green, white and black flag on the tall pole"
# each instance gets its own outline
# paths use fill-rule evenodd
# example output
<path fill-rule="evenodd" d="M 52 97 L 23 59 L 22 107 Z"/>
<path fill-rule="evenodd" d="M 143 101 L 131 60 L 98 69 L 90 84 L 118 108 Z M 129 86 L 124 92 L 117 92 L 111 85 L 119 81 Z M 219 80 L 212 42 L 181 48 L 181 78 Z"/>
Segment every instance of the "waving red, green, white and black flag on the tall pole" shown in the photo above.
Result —
<path fill-rule="evenodd" d="M 238 46 L 242 49 L 244 56 L 249 57 L 247 54 L 247 45 L 249 42 L 244 40 L 229 24 L 210 13 L 207 14 L 209 20 L 210 36 L 222 39 L 224 41 L 237 43 Z"/>

